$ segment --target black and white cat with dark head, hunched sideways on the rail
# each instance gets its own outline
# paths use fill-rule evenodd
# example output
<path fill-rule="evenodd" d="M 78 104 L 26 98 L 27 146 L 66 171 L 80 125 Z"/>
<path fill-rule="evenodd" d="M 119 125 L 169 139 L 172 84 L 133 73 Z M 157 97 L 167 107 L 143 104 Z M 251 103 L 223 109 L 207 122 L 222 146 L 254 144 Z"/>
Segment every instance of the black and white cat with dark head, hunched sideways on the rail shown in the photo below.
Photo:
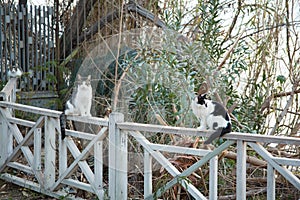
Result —
<path fill-rule="evenodd" d="M 192 101 L 192 110 L 200 120 L 199 130 L 213 130 L 213 134 L 204 142 L 210 144 L 214 139 L 231 132 L 231 120 L 224 106 L 206 98 L 206 94 L 199 93 Z"/>

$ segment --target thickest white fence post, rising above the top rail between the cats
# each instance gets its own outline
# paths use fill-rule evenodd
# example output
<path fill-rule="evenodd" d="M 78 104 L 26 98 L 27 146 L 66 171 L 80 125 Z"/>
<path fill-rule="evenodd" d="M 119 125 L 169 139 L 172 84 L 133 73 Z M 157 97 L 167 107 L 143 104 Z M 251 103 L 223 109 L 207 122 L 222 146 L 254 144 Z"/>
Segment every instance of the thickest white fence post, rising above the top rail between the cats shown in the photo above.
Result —
<path fill-rule="evenodd" d="M 109 197 L 127 199 L 127 133 L 117 127 L 124 121 L 122 113 L 109 115 Z"/>

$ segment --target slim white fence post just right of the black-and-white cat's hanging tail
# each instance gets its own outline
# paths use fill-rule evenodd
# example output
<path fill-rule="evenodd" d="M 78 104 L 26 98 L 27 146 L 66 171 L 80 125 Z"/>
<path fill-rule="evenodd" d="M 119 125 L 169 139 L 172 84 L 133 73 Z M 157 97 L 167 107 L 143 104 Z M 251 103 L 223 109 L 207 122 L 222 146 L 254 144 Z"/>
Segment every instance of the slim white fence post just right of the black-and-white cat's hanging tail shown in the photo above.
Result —
<path fill-rule="evenodd" d="M 236 199 L 239 200 L 246 200 L 246 145 L 242 140 L 237 141 Z"/>

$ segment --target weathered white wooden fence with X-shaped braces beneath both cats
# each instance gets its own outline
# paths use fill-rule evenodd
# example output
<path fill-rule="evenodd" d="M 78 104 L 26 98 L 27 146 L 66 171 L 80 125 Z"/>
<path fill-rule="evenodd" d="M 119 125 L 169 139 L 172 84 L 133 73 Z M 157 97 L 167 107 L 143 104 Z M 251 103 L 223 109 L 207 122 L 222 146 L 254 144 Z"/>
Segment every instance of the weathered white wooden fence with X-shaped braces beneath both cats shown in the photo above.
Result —
<path fill-rule="evenodd" d="M 66 188 L 82 189 L 95 194 L 99 199 L 127 199 L 128 196 L 128 136 L 144 149 L 144 199 L 156 199 L 176 184 L 195 199 L 218 198 L 218 155 L 237 143 L 236 199 L 246 199 L 246 147 L 255 150 L 268 163 L 267 199 L 275 199 L 276 170 L 300 190 L 300 180 L 285 166 L 300 166 L 300 159 L 277 158 L 261 144 L 282 143 L 300 145 L 300 138 L 263 136 L 245 133 L 230 133 L 228 139 L 214 151 L 154 144 L 144 136 L 145 132 L 208 136 L 192 128 L 168 127 L 124 122 L 121 113 L 111 113 L 109 120 L 102 118 L 71 117 L 69 120 L 96 126 L 97 134 L 66 130 L 62 138 L 59 117 L 61 112 L 14 103 L 15 79 L 11 79 L 0 94 L 0 178 L 22 187 L 44 193 L 55 198 L 78 198 L 68 194 Z M 33 119 L 17 117 L 18 112 L 32 113 Z M 20 115 L 20 114 L 19 114 Z M 26 131 L 24 131 L 26 130 Z M 88 141 L 80 149 L 77 139 Z M 104 183 L 103 142 L 108 139 L 108 184 Z M 93 151 L 93 153 L 91 153 Z M 180 172 L 162 152 L 184 153 L 201 159 Z M 87 161 L 94 158 L 94 169 Z M 155 159 L 174 178 L 156 191 L 152 187 L 152 163 Z M 204 196 L 188 180 L 188 176 L 209 162 L 209 196 Z M 85 179 L 74 175 L 78 168 Z M 11 169 L 22 171 L 18 176 Z"/>

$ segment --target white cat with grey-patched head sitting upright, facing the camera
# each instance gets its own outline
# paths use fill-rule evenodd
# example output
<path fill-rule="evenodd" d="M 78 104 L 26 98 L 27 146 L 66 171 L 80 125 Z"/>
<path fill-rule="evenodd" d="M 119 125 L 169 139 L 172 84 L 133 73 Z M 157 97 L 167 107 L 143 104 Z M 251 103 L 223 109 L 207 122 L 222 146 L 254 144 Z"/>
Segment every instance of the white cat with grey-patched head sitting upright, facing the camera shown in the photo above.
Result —
<path fill-rule="evenodd" d="M 80 116 L 91 116 L 92 107 L 92 86 L 91 86 L 91 75 L 87 77 L 85 81 L 78 74 L 78 86 L 76 91 L 73 93 L 72 101 L 69 100 L 66 103 L 66 115 L 80 115 Z"/>

